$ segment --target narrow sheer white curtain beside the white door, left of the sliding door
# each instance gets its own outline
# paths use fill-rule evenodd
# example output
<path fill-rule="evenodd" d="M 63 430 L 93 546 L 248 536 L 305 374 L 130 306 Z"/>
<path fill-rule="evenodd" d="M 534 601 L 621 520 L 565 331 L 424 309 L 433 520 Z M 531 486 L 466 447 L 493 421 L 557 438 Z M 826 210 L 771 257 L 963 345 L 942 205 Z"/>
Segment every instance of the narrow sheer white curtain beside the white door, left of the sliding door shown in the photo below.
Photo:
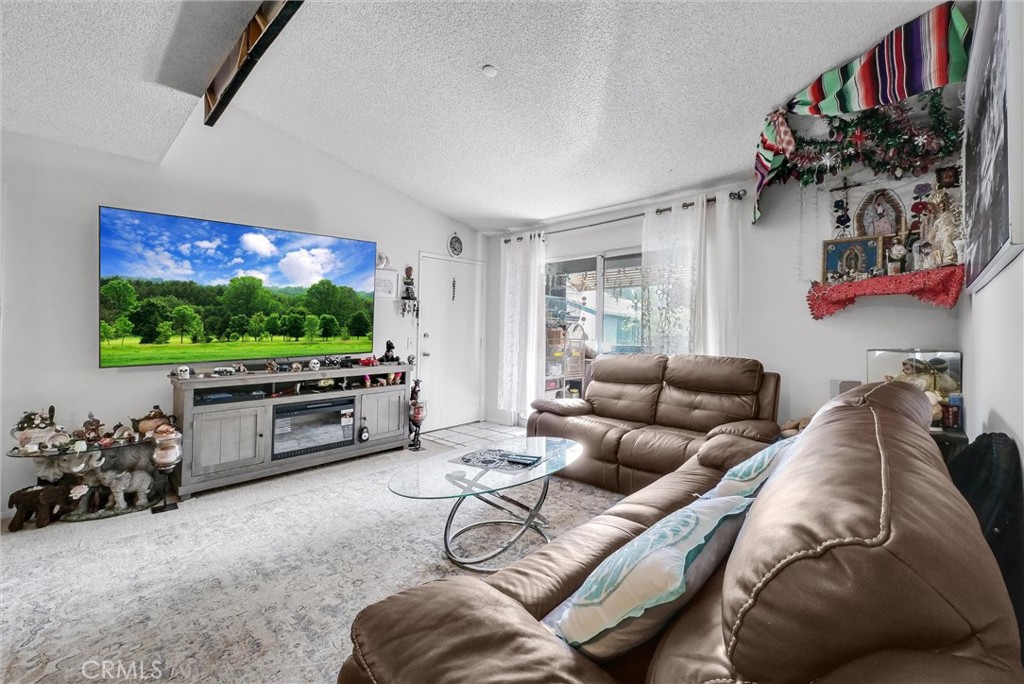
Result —
<path fill-rule="evenodd" d="M 525 415 L 544 394 L 544 233 L 506 239 L 501 255 L 498 408 Z"/>

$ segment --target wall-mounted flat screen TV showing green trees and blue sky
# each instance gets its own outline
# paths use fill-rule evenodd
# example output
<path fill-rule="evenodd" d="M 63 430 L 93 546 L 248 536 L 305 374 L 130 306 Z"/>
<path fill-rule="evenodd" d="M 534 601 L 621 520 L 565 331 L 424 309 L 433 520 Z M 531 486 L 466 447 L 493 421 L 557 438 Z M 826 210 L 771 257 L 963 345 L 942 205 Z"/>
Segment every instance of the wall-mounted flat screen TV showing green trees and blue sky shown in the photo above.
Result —
<path fill-rule="evenodd" d="M 377 244 L 99 208 L 99 366 L 373 350 Z"/>

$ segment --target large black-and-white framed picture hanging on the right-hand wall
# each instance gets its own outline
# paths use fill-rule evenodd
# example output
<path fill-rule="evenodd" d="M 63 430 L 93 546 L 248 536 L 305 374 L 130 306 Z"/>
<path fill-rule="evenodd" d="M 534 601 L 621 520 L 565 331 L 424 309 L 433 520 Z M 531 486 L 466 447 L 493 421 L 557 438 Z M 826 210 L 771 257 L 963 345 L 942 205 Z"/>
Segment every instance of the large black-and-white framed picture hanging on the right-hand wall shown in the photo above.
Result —
<path fill-rule="evenodd" d="M 1014 176 L 1020 184 L 1021 162 L 1019 155 L 1009 155 L 1021 145 L 1021 37 L 1008 30 L 1014 20 L 1020 23 L 1020 13 L 1019 3 L 978 4 L 964 110 L 964 230 L 967 289 L 972 293 L 1024 250 L 1020 187 L 1011 182 Z M 1008 98 L 1008 85 L 1016 89 L 1016 97 Z"/>

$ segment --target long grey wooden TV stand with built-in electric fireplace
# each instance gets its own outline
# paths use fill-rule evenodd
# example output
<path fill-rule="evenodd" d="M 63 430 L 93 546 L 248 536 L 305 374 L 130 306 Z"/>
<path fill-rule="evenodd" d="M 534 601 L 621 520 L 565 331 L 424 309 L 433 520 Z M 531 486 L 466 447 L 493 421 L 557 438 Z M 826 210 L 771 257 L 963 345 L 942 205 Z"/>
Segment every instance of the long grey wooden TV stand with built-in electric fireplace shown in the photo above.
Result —
<path fill-rule="evenodd" d="M 205 489 L 406 446 L 415 370 L 389 364 L 172 377 L 173 413 L 183 434 L 178 496 L 185 500 Z M 282 457 L 274 453 L 275 409 L 281 418 L 300 404 L 337 407 L 342 425 L 351 416 L 351 430 L 339 429 L 346 438 L 330 442 L 336 445 L 313 444 Z M 287 425 L 284 419 L 278 423 L 283 436 Z M 359 441 L 364 427 L 369 438 Z"/>

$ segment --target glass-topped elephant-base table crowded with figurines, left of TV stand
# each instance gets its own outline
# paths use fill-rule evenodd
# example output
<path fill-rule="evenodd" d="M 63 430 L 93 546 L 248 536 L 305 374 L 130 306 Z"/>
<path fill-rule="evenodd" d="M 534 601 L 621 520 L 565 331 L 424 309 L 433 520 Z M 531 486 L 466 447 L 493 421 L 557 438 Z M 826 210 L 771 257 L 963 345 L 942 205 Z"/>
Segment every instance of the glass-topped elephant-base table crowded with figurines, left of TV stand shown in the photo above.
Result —
<path fill-rule="evenodd" d="M 130 422 L 106 429 L 90 414 L 69 431 L 53 407 L 26 412 L 10 430 L 17 445 L 7 456 L 33 459 L 38 483 L 10 495 L 7 506 L 16 510 L 8 529 L 18 531 L 33 517 L 38 528 L 174 507 L 167 504 L 168 480 L 181 461 L 174 417 L 154 407 Z"/>

